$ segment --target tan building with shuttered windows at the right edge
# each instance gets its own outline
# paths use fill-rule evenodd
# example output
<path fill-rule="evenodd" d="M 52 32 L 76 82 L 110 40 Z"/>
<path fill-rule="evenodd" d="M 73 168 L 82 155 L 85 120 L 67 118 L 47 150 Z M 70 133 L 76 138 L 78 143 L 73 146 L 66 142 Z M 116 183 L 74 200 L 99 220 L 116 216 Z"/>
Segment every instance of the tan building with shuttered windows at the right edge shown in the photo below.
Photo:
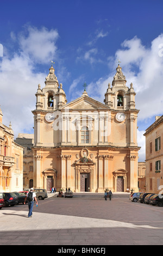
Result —
<path fill-rule="evenodd" d="M 146 136 L 146 191 L 159 193 L 163 189 L 163 115 L 155 119 L 144 134 Z"/>

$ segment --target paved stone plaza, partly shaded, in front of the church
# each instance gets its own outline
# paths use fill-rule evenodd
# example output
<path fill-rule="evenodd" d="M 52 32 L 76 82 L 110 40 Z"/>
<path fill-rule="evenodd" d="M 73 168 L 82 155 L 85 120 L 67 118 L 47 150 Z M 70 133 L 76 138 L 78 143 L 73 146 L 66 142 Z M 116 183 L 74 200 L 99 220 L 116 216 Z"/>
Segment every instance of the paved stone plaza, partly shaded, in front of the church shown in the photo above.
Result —
<path fill-rule="evenodd" d="M 162 245 L 163 207 L 128 197 L 57 198 L 2 208 L 0 245 Z"/>

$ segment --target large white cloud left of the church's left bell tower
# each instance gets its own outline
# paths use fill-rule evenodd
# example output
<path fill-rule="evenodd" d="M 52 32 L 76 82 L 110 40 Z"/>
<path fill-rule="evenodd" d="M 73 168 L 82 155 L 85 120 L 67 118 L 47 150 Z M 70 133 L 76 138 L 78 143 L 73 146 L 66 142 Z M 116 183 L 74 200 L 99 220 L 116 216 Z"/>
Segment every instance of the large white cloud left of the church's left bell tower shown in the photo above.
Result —
<path fill-rule="evenodd" d="M 17 37 L 20 51 L 5 53 L 0 63 L 0 102 L 3 112 L 3 124 L 11 121 L 15 137 L 20 132 L 33 132 L 33 114 L 35 109 L 37 85 L 44 84 L 47 74 L 35 71 L 35 61 L 49 63 L 57 51 L 55 42 L 58 32 L 46 28 L 28 27 L 28 34 Z M 12 40 L 16 40 L 11 33 Z"/>

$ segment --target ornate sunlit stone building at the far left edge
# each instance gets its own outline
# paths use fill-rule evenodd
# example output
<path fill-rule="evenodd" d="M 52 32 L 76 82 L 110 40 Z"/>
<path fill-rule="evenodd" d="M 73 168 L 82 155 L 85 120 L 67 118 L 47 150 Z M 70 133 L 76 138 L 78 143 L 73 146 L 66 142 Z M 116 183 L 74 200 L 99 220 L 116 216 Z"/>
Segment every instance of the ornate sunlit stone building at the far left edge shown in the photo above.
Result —
<path fill-rule="evenodd" d="M 23 188 L 23 147 L 14 142 L 14 132 L 2 123 L 0 108 L 0 191 Z"/>

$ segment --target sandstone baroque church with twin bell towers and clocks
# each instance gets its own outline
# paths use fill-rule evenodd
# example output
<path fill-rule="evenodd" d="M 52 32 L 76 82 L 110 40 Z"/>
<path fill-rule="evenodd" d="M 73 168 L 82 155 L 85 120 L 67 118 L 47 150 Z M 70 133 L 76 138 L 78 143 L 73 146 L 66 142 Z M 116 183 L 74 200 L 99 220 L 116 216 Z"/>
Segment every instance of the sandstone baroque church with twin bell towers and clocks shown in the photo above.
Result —
<path fill-rule="evenodd" d="M 33 186 L 73 192 L 138 191 L 137 114 L 133 84 L 118 64 L 104 103 L 83 95 L 67 103 L 53 66 L 36 92 Z"/>

